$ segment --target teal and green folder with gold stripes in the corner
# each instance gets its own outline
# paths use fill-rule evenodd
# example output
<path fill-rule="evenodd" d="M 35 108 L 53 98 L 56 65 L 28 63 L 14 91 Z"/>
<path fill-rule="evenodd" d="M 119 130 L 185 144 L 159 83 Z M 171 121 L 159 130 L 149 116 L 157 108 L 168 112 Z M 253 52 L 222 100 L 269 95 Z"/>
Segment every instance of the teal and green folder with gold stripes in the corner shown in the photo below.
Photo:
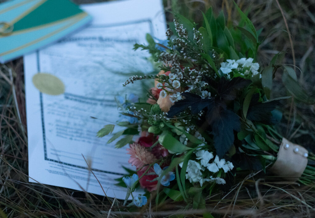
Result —
<path fill-rule="evenodd" d="M 92 17 L 69 0 L 13 0 L 0 4 L 0 62 L 55 42 Z"/>

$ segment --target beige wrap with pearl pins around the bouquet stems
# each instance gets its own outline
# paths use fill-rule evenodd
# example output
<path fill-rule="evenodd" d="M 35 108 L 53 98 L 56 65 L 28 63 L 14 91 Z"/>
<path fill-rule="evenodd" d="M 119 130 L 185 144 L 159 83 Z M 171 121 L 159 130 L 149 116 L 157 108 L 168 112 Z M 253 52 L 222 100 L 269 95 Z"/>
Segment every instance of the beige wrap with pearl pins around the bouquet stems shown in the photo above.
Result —
<path fill-rule="evenodd" d="M 306 168 L 307 157 L 308 151 L 304 147 L 282 138 L 277 160 L 270 170 L 286 181 L 296 181 Z"/>

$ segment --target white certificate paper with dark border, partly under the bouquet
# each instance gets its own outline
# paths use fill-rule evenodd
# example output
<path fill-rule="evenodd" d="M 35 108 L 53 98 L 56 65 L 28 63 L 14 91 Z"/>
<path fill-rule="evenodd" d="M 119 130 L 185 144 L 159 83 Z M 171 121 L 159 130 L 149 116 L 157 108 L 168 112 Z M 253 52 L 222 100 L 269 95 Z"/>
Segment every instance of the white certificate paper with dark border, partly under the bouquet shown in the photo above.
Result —
<path fill-rule="evenodd" d="M 133 45 L 146 43 L 146 33 L 165 39 L 162 1 L 81 7 L 94 18 L 89 27 L 24 56 L 30 181 L 104 195 L 84 156 L 106 195 L 124 199 L 126 189 L 114 179 L 126 173 L 122 166 L 130 168 L 129 155 L 126 148 L 114 148 L 115 142 L 106 144 L 111 136 L 97 138 L 96 133 L 119 120 L 116 95 L 141 91 L 123 87 L 129 74 L 152 72 L 148 53 L 134 51 Z M 60 78 L 65 93 L 40 93 L 32 77 L 43 72 Z"/>

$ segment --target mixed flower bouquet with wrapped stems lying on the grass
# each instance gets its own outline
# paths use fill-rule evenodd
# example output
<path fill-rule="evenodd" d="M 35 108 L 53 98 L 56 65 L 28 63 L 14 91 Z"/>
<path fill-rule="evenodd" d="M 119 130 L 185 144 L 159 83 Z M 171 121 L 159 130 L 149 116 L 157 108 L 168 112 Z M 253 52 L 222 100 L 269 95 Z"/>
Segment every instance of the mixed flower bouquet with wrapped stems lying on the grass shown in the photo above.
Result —
<path fill-rule="evenodd" d="M 120 99 L 122 114 L 130 119 L 118 123 L 126 129 L 109 140 L 124 135 L 116 146 L 128 145 L 129 163 L 137 169 L 120 182 L 128 187 L 125 203 L 140 184 L 155 193 L 156 204 L 171 198 L 200 208 L 205 196 L 228 190 L 252 171 L 314 182 L 314 154 L 284 139 L 274 127 L 281 119 L 276 109 L 280 100 L 314 99 L 299 86 L 290 66 L 278 64 L 283 53 L 261 68 L 256 62 L 260 32 L 235 7 L 241 17 L 238 26 L 226 25 L 223 12 L 215 17 L 210 8 L 203 25 L 176 14 L 166 32 L 167 44 L 155 43 L 150 35 L 148 45 L 135 44 L 162 66 L 156 76 L 135 75 L 124 84 L 143 79 L 155 83 L 146 102 L 134 96 Z M 272 99 L 278 68 L 292 96 Z M 113 128 L 106 125 L 99 136 Z M 132 196 L 130 205 L 145 205 L 146 196 Z"/>

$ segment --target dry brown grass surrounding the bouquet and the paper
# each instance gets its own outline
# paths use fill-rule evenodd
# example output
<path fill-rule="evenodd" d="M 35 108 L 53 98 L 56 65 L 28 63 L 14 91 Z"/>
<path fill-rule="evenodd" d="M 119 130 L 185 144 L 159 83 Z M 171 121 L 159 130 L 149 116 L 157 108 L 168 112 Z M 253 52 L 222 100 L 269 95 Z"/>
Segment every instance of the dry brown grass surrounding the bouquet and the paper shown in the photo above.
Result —
<path fill-rule="evenodd" d="M 264 28 L 261 37 L 266 37 L 266 40 L 259 50 L 260 63 L 267 65 L 272 55 L 285 50 L 284 63 L 294 64 L 288 33 L 277 31 L 268 35 L 275 28 L 286 30 L 276 1 L 239 0 L 237 3 L 243 11 L 249 9 L 249 17 L 257 29 Z M 279 3 L 293 39 L 300 82 L 310 93 L 315 93 L 315 2 L 286 0 Z M 172 1 L 165 0 L 164 4 L 168 9 L 185 12 L 195 20 L 201 19 L 198 9 L 210 5 L 214 11 L 223 7 L 232 23 L 237 16 L 229 0 L 178 0 L 176 7 Z M 168 19 L 171 19 L 170 14 Z M 12 77 L 9 68 L 12 69 Z M 180 214 L 202 217 L 205 212 L 211 212 L 215 217 L 315 217 L 314 187 L 277 183 L 270 177 L 257 180 L 262 177 L 261 174 L 248 176 L 228 193 L 219 192 L 210 199 L 206 198 L 205 210 L 190 210 L 184 204 L 171 201 L 157 208 L 152 201 L 147 209 L 131 212 L 117 200 L 110 204 L 102 196 L 29 183 L 23 61 L 12 61 L 0 66 L 0 70 L 0 217 L 183 217 Z M 276 80 L 275 95 L 285 94 L 278 77 Z M 281 134 L 314 152 L 314 105 L 289 100 L 283 103 L 282 109 Z"/>

